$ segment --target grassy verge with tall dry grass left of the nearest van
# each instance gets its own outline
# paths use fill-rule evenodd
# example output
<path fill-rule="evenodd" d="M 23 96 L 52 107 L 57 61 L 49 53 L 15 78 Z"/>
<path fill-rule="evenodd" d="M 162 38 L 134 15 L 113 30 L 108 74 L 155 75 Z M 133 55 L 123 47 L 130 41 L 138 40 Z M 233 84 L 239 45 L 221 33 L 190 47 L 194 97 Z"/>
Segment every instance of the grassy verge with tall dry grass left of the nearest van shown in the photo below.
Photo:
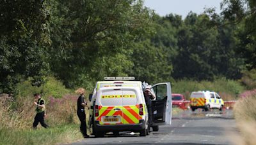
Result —
<path fill-rule="evenodd" d="M 46 100 L 46 122 L 50 128 L 38 125 L 37 130 L 32 129 L 36 114 L 33 97 L 15 101 L 0 104 L 0 144 L 56 144 L 83 138 L 76 114 L 77 96 L 49 97 Z"/>

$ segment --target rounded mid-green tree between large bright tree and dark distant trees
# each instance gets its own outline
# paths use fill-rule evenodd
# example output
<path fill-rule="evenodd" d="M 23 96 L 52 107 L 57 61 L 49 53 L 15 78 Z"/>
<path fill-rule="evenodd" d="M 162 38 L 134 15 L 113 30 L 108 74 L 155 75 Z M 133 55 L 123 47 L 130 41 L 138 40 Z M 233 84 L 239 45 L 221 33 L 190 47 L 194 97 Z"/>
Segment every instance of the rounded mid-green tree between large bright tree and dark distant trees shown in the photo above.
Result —
<path fill-rule="evenodd" d="M 132 62 L 134 69 L 127 70 L 131 76 L 148 83 L 166 81 L 171 79 L 172 66 L 168 64 L 168 57 L 163 48 L 148 45 L 148 41 L 134 45 Z"/>

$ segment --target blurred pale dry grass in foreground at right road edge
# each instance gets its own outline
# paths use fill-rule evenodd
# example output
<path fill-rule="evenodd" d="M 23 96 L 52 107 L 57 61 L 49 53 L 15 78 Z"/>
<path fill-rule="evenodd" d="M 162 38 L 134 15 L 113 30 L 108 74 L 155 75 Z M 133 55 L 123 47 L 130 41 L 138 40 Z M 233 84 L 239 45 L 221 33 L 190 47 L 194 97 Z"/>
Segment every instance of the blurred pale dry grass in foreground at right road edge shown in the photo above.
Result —
<path fill-rule="evenodd" d="M 256 95 L 239 99 L 234 107 L 237 128 L 241 133 L 239 144 L 256 144 Z M 237 144 L 235 142 L 235 144 Z"/>

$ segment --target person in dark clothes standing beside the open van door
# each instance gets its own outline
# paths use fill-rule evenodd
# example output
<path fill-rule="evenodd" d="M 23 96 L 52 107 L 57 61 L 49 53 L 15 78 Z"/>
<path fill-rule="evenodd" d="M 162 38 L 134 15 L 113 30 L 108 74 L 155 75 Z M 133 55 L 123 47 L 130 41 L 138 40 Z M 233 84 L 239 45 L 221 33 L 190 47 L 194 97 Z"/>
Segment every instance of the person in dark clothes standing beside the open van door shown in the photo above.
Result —
<path fill-rule="evenodd" d="M 144 97 L 148 109 L 148 128 L 150 128 L 153 124 L 152 121 L 152 100 L 156 99 L 156 95 L 154 95 L 150 88 L 146 88 L 144 91 Z M 150 129 L 149 129 L 150 131 Z"/>

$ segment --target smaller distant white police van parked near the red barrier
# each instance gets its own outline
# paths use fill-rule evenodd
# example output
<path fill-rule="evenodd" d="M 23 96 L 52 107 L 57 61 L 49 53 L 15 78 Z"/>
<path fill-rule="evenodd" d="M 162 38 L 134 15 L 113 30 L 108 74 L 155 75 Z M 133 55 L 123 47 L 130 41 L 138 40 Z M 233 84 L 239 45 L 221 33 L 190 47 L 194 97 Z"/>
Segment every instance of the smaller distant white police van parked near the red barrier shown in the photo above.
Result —
<path fill-rule="evenodd" d="M 209 109 L 220 109 L 221 111 L 223 106 L 224 101 L 216 92 L 198 91 L 192 92 L 190 95 L 190 107 L 192 111 L 198 108 L 203 108 L 205 111 L 209 111 Z"/>

